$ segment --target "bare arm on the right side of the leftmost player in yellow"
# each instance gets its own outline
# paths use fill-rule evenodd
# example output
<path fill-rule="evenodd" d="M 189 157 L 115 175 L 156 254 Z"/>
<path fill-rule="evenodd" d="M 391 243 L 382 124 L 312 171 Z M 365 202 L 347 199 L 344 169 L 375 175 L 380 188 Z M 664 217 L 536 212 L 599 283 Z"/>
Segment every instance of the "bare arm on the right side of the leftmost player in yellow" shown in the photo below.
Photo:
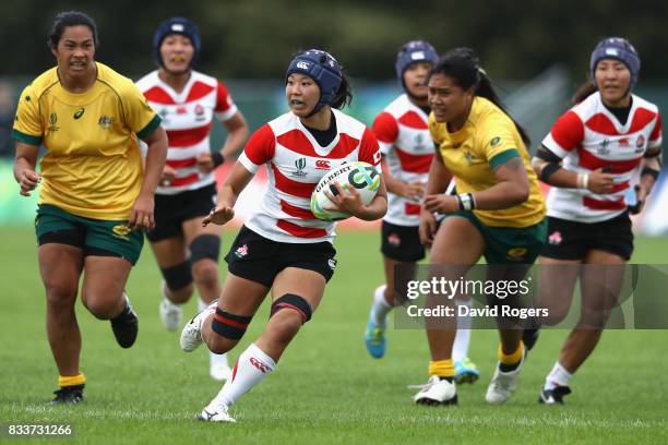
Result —
<path fill-rule="evenodd" d="M 155 189 L 165 167 L 167 159 L 167 133 L 163 125 L 158 125 L 143 141 L 148 145 L 146 152 L 146 166 L 144 168 L 144 181 L 139 196 L 132 205 L 128 226 L 133 229 L 153 229 L 155 227 Z"/>

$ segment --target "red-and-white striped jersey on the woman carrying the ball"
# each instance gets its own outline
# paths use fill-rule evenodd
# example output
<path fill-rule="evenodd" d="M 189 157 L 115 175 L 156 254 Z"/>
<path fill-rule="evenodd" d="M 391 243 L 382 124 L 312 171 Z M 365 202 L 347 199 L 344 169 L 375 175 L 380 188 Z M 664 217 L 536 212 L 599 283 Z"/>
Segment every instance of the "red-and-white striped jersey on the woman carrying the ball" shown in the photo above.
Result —
<path fill-rule="evenodd" d="M 338 110 L 332 112 L 337 134 L 326 147 L 291 112 L 251 135 L 239 161 L 251 173 L 265 165 L 269 184 L 260 209 L 246 220 L 246 227 L 278 242 L 334 240 L 335 222 L 317 219 L 311 213 L 313 189 L 327 171 L 344 163 L 380 166 L 381 154 L 370 129 Z"/>

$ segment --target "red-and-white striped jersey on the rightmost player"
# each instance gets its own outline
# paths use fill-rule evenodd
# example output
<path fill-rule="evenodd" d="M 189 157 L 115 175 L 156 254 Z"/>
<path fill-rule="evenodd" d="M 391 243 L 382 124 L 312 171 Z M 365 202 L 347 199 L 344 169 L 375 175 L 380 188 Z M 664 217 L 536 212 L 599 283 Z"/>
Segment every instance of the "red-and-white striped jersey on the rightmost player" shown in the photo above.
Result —
<path fill-rule="evenodd" d="M 598 92 L 566 111 L 542 140 L 563 168 L 591 173 L 607 168 L 615 176 L 612 191 L 596 194 L 582 189 L 551 188 L 548 215 L 581 222 L 613 218 L 627 209 L 624 195 L 647 148 L 661 144 L 661 117 L 656 105 L 633 95 L 622 125 L 603 104 Z"/>

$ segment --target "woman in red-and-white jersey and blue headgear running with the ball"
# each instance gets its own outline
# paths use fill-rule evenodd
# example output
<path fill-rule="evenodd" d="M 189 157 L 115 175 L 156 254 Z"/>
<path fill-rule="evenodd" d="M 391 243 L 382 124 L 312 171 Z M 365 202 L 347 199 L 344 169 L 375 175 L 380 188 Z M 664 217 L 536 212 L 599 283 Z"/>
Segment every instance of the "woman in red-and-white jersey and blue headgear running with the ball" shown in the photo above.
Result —
<path fill-rule="evenodd" d="M 260 167 L 266 167 L 267 192 L 225 257 L 229 273 L 220 298 L 181 333 L 186 351 L 205 342 L 211 351 L 225 353 L 239 342 L 272 292 L 264 333 L 239 356 L 231 378 L 202 410 L 199 418 L 205 421 L 235 421 L 228 408 L 274 371 L 289 342 L 311 318 L 334 274 L 335 224 L 315 219 L 310 211 L 318 181 L 344 163 L 380 165 L 371 130 L 338 110 L 349 103 L 351 93 L 347 76 L 331 55 L 317 49 L 297 55 L 286 72 L 285 93 L 290 110 L 252 134 L 218 191 L 217 206 L 204 219 L 204 224 L 228 222 L 239 193 Z M 332 209 L 365 220 L 379 219 L 387 211 L 382 181 L 369 205 L 355 191 L 338 185 L 336 191 Z"/>

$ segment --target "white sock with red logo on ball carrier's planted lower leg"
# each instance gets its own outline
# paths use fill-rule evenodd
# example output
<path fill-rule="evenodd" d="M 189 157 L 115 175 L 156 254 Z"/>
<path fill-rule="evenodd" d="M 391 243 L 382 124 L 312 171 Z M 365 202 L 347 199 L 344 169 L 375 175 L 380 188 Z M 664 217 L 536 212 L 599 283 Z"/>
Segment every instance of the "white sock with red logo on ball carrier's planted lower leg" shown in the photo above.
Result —
<path fill-rule="evenodd" d="M 228 407 L 234 405 L 242 395 L 262 382 L 270 372 L 274 371 L 274 368 L 276 368 L 274 360 L 255 344 L 251 344 L 239 356 L 231 378 L 225 382 L 223 389 L 207 408 L 215 409 L 219 405 Z"/>

